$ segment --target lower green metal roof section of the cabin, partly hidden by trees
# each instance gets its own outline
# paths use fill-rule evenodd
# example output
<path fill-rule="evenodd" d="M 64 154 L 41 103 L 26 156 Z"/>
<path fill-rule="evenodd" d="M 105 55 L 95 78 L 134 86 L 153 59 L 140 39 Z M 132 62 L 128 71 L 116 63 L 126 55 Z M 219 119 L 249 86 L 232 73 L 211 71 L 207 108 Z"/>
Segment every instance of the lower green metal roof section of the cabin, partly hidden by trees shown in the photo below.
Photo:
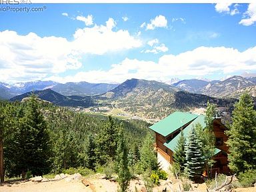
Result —
<path fill-rule="evenodd" d="M 205 125 L 205 116 L 204 115 L 197 115 L 197 118 L 194 119 L 194 121 L 192 121 L 187 127 L 185 127 L 185 129 L 183 129 L 183 134 L 184 134 L 185 138 L 188 137 L 189 131 L 197 123 L 200 123 L 202 125 L 202 127 L 205 128 L 205 126 L 206 126 Z M 181 133 L 179 133 L 176 137 L 174 137 L 173 139 L 167 141 L 166 143 L 163 143 L 163 145 L 165 145 L 165 147 L 171 149 L 171 151 L 174 151 L 174 149 L 175 149 L 175 147 L 177 145 L 177 141 L 178 141 L 179 137 L 181 137 Z"/>

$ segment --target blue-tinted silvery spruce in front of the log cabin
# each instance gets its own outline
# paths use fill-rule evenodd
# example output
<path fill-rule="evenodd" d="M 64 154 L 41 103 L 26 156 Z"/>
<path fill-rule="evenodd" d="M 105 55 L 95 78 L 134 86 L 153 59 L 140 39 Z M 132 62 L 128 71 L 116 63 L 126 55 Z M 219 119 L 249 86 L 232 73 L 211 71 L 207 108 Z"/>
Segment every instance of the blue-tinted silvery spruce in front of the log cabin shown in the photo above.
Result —
<path fill-rule="evenodd" d="M 185 172 L 189 178 L 193 179 L 197 175 L 201 175 L 203 169 L 202 146 L 195 133 L 195 128 L 192 127 L 186 143 L 186 161 Z"/>

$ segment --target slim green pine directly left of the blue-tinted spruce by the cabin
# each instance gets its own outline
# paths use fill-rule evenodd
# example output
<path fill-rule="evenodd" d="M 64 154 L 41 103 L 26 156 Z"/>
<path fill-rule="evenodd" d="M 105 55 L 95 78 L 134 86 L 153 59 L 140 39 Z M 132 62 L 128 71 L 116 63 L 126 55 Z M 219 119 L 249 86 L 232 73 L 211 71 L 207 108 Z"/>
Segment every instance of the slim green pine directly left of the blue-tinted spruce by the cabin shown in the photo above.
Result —
<path fill-rule="evenodd" d="M 185 143 L 186 139 L 184 137 L 183 131 L 181 131 L 181 136 L 177 141 L 177 145 L 173 153 L 173 161 L 179 165 L 181 172 L 184 171 L 186 163 Z"/>

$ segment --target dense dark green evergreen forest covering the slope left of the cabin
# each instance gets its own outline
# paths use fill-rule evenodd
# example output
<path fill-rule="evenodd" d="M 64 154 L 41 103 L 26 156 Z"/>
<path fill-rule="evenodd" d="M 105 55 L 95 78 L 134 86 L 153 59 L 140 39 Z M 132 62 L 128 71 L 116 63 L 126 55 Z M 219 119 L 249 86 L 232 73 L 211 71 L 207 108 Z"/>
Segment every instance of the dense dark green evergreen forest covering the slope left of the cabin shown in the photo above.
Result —
<path fill-rule="evenodd" d="M 139 160 L 141 144 L 150 134 L 144 121 L 77 113 L 35 95 L 25 102 L 1 102 L 0 110 L 7 177 L 59 173 L 70 167 L 95 170 L 117 159 L 122 130 L 131 165 Z"/>

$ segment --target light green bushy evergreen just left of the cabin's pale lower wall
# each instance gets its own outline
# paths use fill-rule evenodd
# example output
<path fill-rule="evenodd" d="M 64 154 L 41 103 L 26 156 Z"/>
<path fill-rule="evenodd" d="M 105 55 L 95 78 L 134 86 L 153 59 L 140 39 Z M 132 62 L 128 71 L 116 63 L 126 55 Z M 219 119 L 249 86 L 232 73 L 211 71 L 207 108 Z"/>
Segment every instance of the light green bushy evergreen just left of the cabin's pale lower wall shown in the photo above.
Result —
<path fill-rule="evenodd" d="M 143 141 L 141 150 L 141 169 L 145 171 L 146 169 L 157 170 L 157 155 L 153 149 L 153 137 L 150 133 L 147 134 L 145 140 Z"/>

